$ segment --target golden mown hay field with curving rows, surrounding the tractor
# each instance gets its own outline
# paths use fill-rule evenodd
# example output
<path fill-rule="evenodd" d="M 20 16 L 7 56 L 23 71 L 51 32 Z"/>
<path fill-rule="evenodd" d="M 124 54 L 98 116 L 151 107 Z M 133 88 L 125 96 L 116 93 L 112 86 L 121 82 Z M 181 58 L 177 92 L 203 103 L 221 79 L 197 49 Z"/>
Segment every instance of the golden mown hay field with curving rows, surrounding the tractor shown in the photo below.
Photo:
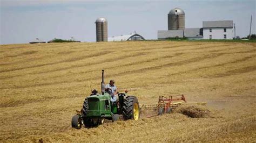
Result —
<path fill-rule="evenodd" d="M 0 142 L 255 142 L 256 44 L 129 41 L 0 46 Z M 101 70 L 139 103 L 184 94 L 211 118 L 179 113 L 71 128 Z"/>

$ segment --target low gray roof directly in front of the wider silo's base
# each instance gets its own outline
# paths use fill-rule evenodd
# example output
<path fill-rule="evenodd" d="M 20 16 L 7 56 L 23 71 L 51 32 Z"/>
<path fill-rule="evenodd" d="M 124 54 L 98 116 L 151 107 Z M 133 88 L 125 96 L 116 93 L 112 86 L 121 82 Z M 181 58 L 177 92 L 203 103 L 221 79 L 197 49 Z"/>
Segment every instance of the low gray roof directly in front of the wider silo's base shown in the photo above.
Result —
<path fill-rule="evenodd" d="M 165 39 L 165 38 L 183 38 L 183 30 L 159 30 L 157 31 L 157 38 L 158 39 Z"/>

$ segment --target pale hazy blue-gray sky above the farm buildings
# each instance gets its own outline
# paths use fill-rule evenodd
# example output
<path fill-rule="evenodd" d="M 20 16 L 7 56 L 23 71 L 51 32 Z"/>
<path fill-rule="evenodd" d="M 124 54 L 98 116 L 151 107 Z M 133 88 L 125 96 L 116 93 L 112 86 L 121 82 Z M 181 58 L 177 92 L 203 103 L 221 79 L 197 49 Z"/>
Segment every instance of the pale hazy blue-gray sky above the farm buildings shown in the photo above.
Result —
<path fill-rule="evenodd" d="M 167 14 L 173 8 L 185 11 L 185 27 L 202 27 L 203 21 L 233 20 L 236 34 L 256 33 L 256 0 L 205 1 L 90 1 L 90 0 L 0 0 L 0 44 L 28 43 L 39 38 L 95 42 L 98 17 L 108 22 L 109 37 L 134 31 L 145 39 L 157 39 L 167 30 Z"/>

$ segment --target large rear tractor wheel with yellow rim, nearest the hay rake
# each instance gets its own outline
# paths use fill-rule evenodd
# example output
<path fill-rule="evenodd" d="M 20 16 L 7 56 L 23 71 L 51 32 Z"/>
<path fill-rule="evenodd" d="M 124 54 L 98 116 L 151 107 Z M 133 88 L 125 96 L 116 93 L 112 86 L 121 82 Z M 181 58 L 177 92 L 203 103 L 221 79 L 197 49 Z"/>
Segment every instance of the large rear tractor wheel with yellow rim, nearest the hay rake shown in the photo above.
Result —
<path fill-rule="evenodd" d="M 138 106 L 138 112 L 134 114 L 133 109 L 134 107 Z M 137 115 L 138 114 L 138 115 Z M 124 99 L 124 106 L 123 106 L 123 117 L 124 120 L 134 119 L 138 120 L 139 118 L 139 102 L 137 97 L 135 96 L 127 96 Z"/>

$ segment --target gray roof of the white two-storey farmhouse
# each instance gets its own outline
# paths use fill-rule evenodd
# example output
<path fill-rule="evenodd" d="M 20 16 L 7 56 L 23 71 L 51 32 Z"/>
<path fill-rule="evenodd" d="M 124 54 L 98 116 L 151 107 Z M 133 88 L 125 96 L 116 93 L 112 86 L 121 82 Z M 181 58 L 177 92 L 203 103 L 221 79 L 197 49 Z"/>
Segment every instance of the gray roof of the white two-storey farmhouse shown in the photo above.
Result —
<path fill-rule="evenodd" d="M 233 27 L 233 20 L 203 22 L 203 28 Z"/>

